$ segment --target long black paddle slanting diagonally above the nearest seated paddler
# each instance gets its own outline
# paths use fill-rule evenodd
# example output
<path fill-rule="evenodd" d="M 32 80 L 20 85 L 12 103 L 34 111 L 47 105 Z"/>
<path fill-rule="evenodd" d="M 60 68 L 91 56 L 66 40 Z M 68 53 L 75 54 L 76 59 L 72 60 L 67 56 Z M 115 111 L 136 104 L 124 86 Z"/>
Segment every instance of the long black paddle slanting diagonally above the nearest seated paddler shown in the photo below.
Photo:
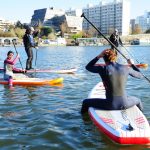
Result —
<path fill-rule="evenodd" d="M 89 21 L 89 19 L 87 19 L 87 18 L 85 17 L 84 13 L 81 15 L 81 17 L 84 17 L 84 19 L 85 19 L 87 22 L 89 22 L 89 23 L 94 27 L 94 29 L 96 29 L 97 32 L 98 32 L 100 35 L 102 35 L 103 38 L 104 38 L 107 42 L 109 42 L 110 45 L 112 45 L 112 46 L 117 50 L 118 53 L 120 53 L 127 61 L 129 60 L 124 54 L 122 54 L 122 53 L 120 52 L 120 50 L 119 50 L 92 22 Z M 136 68 L 136 66 L 135 66 L 134 64 L 132 64 L 132 67 Z M 139 71 L 139 72 L 143 75 L 143 77 L 150 83 L 150 79 L 149 79 L 149 78 L 147 78 L 138 68 L 136 68 L 136 70 Z"/>

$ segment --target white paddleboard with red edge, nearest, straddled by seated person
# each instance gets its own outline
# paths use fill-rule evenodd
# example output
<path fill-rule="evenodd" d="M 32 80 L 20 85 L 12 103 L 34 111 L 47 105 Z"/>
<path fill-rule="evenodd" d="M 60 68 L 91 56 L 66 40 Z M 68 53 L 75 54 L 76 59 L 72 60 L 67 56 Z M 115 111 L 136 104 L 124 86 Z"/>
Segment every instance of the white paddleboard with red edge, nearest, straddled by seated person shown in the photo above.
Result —
<path fill-rule="evenodd" d="M 105 98 L 105 89 L 99 82 L 88 98 Z M 150 144 L 150 126 L 137 106 L 125 110 L 89 108 L 89 116 L 97 128 L 119 144 Z"/>

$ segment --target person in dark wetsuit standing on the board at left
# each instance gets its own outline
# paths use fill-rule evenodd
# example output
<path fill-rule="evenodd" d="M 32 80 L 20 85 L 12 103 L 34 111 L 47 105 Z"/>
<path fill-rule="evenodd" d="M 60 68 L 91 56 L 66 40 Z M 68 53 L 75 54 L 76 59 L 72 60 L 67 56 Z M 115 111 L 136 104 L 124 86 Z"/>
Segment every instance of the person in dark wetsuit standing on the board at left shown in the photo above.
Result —
<path fill-rule="evenodd" d="M 30 70 L 33 69 L 32 68 L 32 60 L 33 60 L 33 50 L 32 48 L 36 48 L 38 45 L 37 43 L 34 41 L 35 37 L 34 35 L 34 28 L 30 27 L 26 29 L 25 35 L 23 36 L 23 43 L 24 43 L 24 47 L 25 47 L 25 51 L 27 54 L 27 61 L 26 61 L 26 70 Z"/>

